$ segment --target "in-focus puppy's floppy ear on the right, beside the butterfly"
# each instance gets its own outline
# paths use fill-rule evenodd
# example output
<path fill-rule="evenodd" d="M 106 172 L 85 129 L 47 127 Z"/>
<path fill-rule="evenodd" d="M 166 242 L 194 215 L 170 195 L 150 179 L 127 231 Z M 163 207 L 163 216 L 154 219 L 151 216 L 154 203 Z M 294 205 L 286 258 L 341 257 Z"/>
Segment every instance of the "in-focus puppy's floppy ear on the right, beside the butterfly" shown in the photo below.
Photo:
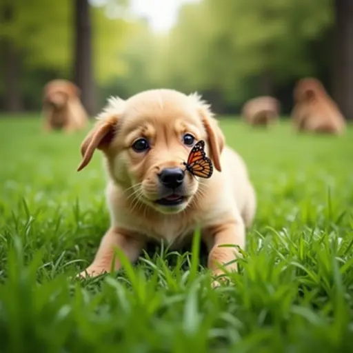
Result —
<path fill-rule="evenodd" d="M 210 145 L 211 159 L 216 170 L 221 172 L 221 152 L 224 148 L 225 138 L 218 121 L 214 119 L 214 114 L 210 109 L 210 105 L 201 99 L 196 92 L 189 96 L 199 111 L 205 130 L 208 134 L 208 144 Z"/>

